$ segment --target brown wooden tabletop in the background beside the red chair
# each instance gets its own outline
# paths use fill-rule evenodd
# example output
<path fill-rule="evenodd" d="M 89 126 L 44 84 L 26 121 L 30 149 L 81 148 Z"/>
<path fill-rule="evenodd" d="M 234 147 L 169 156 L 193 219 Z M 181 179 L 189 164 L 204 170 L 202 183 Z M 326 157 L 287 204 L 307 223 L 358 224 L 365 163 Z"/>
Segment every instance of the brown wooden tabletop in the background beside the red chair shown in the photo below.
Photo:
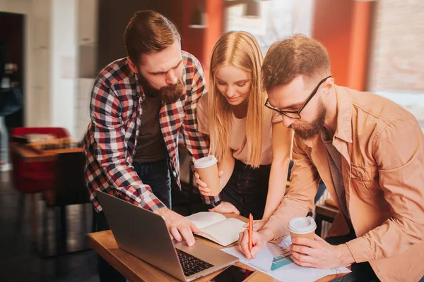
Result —
<path fill-rule="evenodd" d="M 71 148 L 71 149 L 50 149 L 45 151 L 38 151 L 32 147 L 19 143 L 11 143 L 10 149 L 16 152 L 23 161 L 34 162 L 34 161 L 54 161 L 57 154 L 67 152 L 84 152 L 83 148 Z"/>

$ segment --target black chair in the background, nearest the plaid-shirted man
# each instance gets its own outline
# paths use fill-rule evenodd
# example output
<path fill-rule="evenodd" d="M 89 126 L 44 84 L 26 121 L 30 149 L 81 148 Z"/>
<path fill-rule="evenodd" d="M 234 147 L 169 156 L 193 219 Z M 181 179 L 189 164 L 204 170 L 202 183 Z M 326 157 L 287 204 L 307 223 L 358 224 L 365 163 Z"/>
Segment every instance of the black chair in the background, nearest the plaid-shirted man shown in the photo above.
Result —
<path fill-rule="evenodd" d="M 47 240 L 47 212 L 59 208 L 59 216 L 54 211 L 56 223 L 56 253 L 54 255 L 63 255 L 67 253 L 67 232 L 69 230 L 66 218 L 66 206 L 72 204 L 89 203 L 88 189 L 84 175 L 84 166 L 86 157 L 83 152 L 66 152 L 57 156 L 56 169 L 54 171 L 54 187 L 52 190 L 45 192 L 45 228 L 44 238 Z M 86 233 L 86 205 L 83 205 L 83 220 L 81 221 L 81 231 Z M 94 221 L 92 222 L 94 224 Z M 93 228 L 93 226 L 92 226 Z M 45 246 L 47 242 L 44 242 Z M 86 238 L 83 242 L 78 242 L 79 250 L 81 245 L 83 250 L 88 249 Z M 44 247 L 43 247 L 44 249 Z M 78 251 L 79 251 L 78 250 Z"/>

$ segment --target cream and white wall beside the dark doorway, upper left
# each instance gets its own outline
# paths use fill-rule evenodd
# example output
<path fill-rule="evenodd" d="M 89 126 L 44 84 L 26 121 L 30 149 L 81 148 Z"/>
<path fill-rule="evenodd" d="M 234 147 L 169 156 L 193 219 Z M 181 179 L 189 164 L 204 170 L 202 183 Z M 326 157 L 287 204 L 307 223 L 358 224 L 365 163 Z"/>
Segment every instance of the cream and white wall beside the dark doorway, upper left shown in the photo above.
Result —
<path fill-rule="evenodd" d="M 76 133 L 77 0 L 0 0 L 25 15 L 25 126 Z"/>

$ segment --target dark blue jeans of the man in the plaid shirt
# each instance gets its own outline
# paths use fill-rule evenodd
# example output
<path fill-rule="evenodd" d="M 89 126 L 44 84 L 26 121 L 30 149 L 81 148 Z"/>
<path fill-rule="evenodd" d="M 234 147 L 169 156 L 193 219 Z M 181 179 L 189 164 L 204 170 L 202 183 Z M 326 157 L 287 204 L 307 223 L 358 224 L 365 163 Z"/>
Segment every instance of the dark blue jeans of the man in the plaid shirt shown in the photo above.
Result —
<path fill-rule="evenodd" d="M 134 163 L 134 171 L 139 175 L 144 184 L 150 185 L 153 194 L 168 208 L 171 208 L 171 178 L 167 160 L 153 163 Z M 109 230 L 109 225 L 103 212 L 96 213 L 96 231 Z M 105 259 L 98 256 L 98 273 L 101 282 L 126 281 L 116 269 Z"/>

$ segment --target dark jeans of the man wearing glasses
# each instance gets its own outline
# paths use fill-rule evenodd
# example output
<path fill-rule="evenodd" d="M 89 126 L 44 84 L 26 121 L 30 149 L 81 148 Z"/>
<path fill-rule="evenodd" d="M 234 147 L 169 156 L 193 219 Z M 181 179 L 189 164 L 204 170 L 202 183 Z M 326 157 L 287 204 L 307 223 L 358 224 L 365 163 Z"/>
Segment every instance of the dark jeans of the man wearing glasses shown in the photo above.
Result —
<path fill-rule="evenodd" d="M 355 231 L 351 231 L 348 235 L 329 237 L 325 240 L 331 245 L 341 245 L 356 238 Z M 336 278 L 334 282 L 375 282 L 379 278 L 375 275 L 370 263 L 361 262 L 359 264 L 353 263 L 351 266 L 351 273 L 340 278 Z"/>

